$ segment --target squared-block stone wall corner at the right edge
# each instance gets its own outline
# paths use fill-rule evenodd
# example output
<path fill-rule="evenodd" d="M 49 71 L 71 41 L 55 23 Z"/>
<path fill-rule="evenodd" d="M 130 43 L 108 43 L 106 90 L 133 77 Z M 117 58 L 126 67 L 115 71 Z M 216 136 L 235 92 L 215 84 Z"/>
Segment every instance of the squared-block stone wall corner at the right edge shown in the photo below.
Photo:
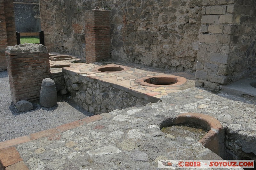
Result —
<path fill-rule="evenodd" d="M 256 69 L 256 1 L 203 1 L 197 54 L 197 85 L 220 84 L 248 76 Z"/>

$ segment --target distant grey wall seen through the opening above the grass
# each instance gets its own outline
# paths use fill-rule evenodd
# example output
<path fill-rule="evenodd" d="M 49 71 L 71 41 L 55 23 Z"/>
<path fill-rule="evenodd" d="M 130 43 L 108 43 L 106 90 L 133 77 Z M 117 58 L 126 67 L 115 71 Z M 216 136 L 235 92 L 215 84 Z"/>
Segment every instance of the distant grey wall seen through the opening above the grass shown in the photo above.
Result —
<path fill-rule="evenodd" d="M 41 31 L 39 1 L 14 0 L 14 14 L 16 31 L 39 32 Z"/>

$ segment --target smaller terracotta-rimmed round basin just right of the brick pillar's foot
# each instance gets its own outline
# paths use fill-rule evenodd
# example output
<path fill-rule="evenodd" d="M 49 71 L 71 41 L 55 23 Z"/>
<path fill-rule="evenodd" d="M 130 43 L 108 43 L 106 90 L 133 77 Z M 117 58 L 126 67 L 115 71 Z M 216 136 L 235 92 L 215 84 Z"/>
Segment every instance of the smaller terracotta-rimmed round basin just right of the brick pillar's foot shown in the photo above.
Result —
<path fill-rule="evenodd" d="M 130 70 L 129 67 L 115 64 L 102 65 L 92 69 L 93 72 L 97 73 L 121 73 L 128 70 Z"/>

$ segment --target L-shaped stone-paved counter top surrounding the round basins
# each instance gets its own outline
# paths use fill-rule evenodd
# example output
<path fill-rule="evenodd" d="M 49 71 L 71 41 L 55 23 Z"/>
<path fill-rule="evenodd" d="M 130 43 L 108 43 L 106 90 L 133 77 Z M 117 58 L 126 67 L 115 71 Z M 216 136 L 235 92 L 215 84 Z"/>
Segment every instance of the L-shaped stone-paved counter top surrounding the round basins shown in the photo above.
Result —
<path fill-rule="evenodd" d="M 152 88 L 134 81 L 145 75 L 164 73 L 137 68 L 121 73 L 92 72 L 100 65 L 76 63 L 63 70 L 161 100 L 2 142 L 0 161 L 7 170 L 157 169 L 159 159 L 221 159 L 191 137 L 174 137 L 160 130 L 161 122 L 187 112 L 218 119 L 225 129 L 226 147 L 237 153 L 256 155 L 255 100 L 196 88 L 194 76 L 188 73 L 173 73 L 188 79 L 183 86 Z"/>

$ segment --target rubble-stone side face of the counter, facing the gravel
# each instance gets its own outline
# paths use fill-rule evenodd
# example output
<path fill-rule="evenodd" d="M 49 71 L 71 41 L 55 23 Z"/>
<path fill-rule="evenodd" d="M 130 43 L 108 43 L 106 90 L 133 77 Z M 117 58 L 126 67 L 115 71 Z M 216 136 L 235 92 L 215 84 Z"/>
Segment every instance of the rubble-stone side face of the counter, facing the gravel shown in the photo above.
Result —
<path fill-rule="evenodd" d="M 144 96 L 135 97 L 124 89 L 118 89 L 118 85 L 77 75 L 68 70 L 62 71 L 66 88 L 71 93 L 71 100 L 95 115 L 135 105 L 145 106 L 149 103 Z"/>

